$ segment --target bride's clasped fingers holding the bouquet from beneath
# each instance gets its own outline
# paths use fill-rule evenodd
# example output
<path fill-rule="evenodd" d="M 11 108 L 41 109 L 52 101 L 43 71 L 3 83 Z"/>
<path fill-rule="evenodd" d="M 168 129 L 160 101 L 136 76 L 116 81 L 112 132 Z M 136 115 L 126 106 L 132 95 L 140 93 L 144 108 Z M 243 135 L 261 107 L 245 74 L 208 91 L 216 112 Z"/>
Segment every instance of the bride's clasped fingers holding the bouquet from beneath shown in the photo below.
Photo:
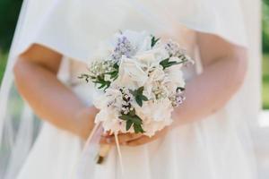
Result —
<path fill-rule="evenodd" d="M 117 135 L 117 138 L 120 145 L 140 146 L 151 141 L 163 138 L 168 131 L 169 127 L 165 127 L 160 132 L 156 132 L 155 135 L 153 135 L 152 137 L 145 136 L 143 135 L 143 133 L 120 133 Z M 115 136 L 103 135 L 100 139 L 100 143 L 115 145 Z"/>

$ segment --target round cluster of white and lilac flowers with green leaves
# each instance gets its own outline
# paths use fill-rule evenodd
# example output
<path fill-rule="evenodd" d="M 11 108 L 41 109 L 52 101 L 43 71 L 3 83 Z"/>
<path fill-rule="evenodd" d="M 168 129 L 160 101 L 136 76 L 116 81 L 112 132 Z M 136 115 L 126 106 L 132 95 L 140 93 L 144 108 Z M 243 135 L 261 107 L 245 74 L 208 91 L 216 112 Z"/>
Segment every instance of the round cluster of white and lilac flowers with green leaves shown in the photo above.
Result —
<path fill-rule="evenodd" d="M 172 40 L 161 42 L 146 32 L 126 30 L 100 47 L 81 79 L 103 90 L 94 101 L 95 123 L 104 132 L 143 132 L 152 136 L 172 123 L 183 100 L 182 67 L 193 61 Z"/>

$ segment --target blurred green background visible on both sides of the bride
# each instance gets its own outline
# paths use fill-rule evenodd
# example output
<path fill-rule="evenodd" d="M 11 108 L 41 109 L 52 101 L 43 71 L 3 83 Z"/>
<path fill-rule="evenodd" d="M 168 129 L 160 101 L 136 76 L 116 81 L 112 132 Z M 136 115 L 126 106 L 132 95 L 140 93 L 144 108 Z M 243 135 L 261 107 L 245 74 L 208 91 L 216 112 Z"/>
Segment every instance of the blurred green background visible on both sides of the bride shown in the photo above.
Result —
<path fill-rule="evenodd" d="M 0 83 L 22 0 L 0 0 Z M 263 107 L 269 109 L 269 0 L 263 0 Z"/>

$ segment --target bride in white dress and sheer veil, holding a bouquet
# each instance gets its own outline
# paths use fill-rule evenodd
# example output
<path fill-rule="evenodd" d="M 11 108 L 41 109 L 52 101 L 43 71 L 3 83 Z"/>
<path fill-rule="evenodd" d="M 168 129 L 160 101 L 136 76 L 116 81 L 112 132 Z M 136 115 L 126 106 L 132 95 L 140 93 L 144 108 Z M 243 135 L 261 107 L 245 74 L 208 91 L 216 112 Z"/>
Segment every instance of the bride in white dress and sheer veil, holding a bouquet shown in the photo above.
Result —
<path fill-rule="evenodd" d="M 0 177 L 124 178 L 116 149 L 102 165 L 78 162 L 98 110 L 93 88 L 77 76 L 101 40 L 117 30 L 147 30 L 180 42 L 195 66 L 185 72 L 187 99 L 171 127 L 152 138 L 118 136 L 126 178 L 256 178 L 251 128 L 258 109 L 258 23 L 256 13 L 246 13 L 250 6 L 257 3 L 24 1 L 1 89 Z M 115 144 L 110 136 L 100 141 Z M 87 172 L 74 175 L 77 165 Z"/>

